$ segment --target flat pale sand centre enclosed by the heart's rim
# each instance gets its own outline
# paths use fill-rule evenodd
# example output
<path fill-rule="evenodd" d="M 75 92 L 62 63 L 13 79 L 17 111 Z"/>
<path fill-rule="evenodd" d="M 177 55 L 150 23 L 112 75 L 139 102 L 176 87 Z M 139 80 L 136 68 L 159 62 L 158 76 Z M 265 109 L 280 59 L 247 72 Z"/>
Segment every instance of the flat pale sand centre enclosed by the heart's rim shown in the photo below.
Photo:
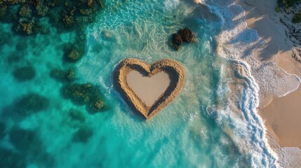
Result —
<path fill-rule="evenodd" d="M 133 70 L 128 73 L 126 80 L 128 86 L 147 106 L 152 106 L 170 85 L 168 73 L 163 71 L 149 78 L 139 71 Z"/>

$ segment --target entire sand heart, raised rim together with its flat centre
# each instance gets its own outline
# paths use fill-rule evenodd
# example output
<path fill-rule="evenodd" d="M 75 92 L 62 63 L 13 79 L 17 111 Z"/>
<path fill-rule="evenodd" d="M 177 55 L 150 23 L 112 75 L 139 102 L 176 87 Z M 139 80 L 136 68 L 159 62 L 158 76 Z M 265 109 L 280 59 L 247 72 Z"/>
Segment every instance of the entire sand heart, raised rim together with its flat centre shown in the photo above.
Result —
<path fill-rule="evenodd" d="M 135 71 L 139 71 L 142 76 L 148 76 L 147 78 L 153 77 L 155 79 L 153 79 L 154 81 L 151 79 L 151 83 L 148 83 L 149 81 L 140 83 L 143 79 L 135 81 L 140 76 Z M 146 119 L 149 119 L 168 105 L 180 92 L 184 78 L 184 69 L 173 59 L 161 59 L 149 66 L 149 64 L 142 62 L 140 59 L 128 58 L 123 59 L 116 66 L 114 71 L 114 87 L 135 113 L 142 114 Z M 149 87 L 156 83 L 156 79 L 159 79 L 160 83 L 156 84 L 154 89 L 149 90 Z M 146 85 L 146 83 L 148 84 Z M 140 84 L 145 86 L 141 86 Z M 164 90 L 166 84 L 168 84 L 168 87 Z M 145 88 L 147 90 L 144 90 Z M 156 89 L 159 90 L 152 93 Z M 160 94 L 162 91 L 163 93 Z"/>

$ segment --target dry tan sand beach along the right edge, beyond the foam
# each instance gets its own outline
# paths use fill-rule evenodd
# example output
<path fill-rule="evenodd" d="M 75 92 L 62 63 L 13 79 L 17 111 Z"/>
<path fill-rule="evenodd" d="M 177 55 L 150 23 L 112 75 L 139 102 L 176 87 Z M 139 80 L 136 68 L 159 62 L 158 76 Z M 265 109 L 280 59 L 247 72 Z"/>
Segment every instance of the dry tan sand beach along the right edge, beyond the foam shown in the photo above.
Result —
<path fill-rule="evenodd" d="M 248 2 L 235 1 L 245 10 L 245 21 L 248 27 L 255 29 L 258 36 L 267 42 L 267 48 L 260 55 L 275 62 L 286 73 L 295 74 L 300 78 L 301 64 L 293 57 L 294 43 L 286 34 L 288 29 L 279 20 L 281 13 L 276 13 L 276 0 L 266 3 L 258 0 Z M 286 156 L 279 151 L 287 150 L 286 147 L 301 149 L 301 134 L 298 129 L 301 127 L 301 113 L 298 113 L 300 111 L 298 100 L 300 99 L 301 87 L 299 85 L 296 90 L 283 97 L 272 97 L 269 103 L 258 109 L 258 114 L 265 120 L 269 144 L 277 151 L 281 160 L 286 160 Z"/>

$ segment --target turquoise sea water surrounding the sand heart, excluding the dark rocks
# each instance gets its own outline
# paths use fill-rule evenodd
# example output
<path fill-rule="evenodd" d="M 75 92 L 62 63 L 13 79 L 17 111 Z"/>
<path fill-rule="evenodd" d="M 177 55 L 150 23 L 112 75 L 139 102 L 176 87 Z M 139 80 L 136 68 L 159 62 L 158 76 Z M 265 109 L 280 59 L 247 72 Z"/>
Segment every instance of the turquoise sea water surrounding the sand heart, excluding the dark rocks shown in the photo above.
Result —
<path fill-rule="evenodd" d="M 62 62 L 62 45 L 74 41 L 74 33 L 59 34 L 51 28 L 47 35 L 16 36 L 11 25 L 1 24 L 1 34 L 6 34 L 0 47 L 1 122 L 6 125 L 1 148 L 6 153 L 11 151 L 9 155 L 27 167 L 275 166 L 276 158 L 262 140 L 265 130 L 254 111 L 257 85 L 251 76 L 232 71 L 233 66 L 244 66 L 248 75 L 248 65 L 218 55 L 225 19 L 213 6 L 177 0 L 104 3 L 97 21 L 86 29 L 88 50 L 74 64 L 76 83 L 93 83 L 102 90 L 107 108 L 100 113 L 88 113 L 86 106 L 62 97 L 63 84 L 49 77 L 53 68 L 72 66 Z M 185 27 L 192 29 L 197 41 L 174 51 L 168 38 Z M 152 120 L 132 113 L 112 87 L 114 66 L 126 57 L 149 63 L 171 58 L 185 67 L 182 91 Z M 13 77 L 15 67 L 24 65 L 34 66 L 34 79 Z M 236 73 L 237 92 L 228 85 L 234 77 L 225 73 Z M 31 92 L 47 97 L 49 106 L 18 116 L 14 102 Z M 70 118 L 70 109 L 81 111 L 85 120 Z M 26 150 L 11 141 L 9 132 L 14 127 L 33 132 L 19 140 L 29 146 Z M 91 137 L 74 141 L 82 127 L 93 132 Z"/>

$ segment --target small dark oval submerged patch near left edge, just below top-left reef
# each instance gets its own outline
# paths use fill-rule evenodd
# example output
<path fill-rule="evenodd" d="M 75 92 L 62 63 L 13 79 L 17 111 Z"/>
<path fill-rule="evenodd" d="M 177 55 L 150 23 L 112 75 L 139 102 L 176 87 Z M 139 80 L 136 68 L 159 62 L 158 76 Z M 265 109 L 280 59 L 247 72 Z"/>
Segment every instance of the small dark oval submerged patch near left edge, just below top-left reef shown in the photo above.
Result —
<path fill-rule="evenodd" d="M 23 66 L 13 71 L 13 76 L 19 81 L 32 80 L 36 72 L 32 66 Z"/>

